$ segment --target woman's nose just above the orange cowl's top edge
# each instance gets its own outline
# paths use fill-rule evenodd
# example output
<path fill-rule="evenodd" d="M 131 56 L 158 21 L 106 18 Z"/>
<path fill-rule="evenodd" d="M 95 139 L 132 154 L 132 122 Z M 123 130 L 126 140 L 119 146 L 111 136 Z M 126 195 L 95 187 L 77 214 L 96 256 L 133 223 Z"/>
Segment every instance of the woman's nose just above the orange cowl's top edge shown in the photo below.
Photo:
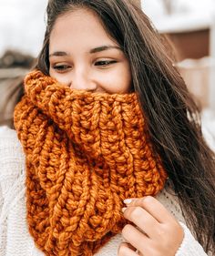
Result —
<path fill-rule="evenodd" d="M 96 91 L 97 82 L 93 79 L 92 74 L 87 69 L 74 70 L 70 79 L 71 89 Z"/>

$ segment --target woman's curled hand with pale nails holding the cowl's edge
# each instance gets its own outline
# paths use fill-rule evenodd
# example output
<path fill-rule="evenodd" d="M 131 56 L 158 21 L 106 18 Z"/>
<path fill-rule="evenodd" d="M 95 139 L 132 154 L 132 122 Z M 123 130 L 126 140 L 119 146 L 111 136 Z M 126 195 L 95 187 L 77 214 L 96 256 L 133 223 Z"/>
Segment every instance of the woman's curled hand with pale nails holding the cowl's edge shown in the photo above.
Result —
<path fill-rule="evenodd" d="M 127 242 L 120 244 L 118 256 L 174 256 L 183 241 L 179 222 L 153 197 L 125 200 L 124 216 L 134 225 L 122 230 Z"/>

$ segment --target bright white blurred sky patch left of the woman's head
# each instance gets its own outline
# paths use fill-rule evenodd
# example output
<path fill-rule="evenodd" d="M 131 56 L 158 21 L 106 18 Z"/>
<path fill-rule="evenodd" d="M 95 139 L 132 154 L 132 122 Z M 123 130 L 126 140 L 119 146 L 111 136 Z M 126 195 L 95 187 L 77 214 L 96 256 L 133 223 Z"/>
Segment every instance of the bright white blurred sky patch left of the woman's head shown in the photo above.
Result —
<path fill-rule="evenodd" d="M 46 26 L 47 0 L 0 0 L 0 56 L 5 49 L 37 56 Z"/>

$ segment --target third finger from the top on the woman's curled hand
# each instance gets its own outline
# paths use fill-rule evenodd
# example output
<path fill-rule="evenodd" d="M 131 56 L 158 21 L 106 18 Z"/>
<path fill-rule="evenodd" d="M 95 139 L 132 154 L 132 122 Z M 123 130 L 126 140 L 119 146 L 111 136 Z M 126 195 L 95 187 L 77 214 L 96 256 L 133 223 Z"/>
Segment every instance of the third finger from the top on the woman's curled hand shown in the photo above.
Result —
<path fill-rule="evenodd" d="M 123 238 L 128 241 L 133 247 L 144 254 L 147 248 L 152 246 L 152 241 L 134 226 L 128 224 L 122 230 Z M 137 254 L 137 253 L 136 253 Z"/>

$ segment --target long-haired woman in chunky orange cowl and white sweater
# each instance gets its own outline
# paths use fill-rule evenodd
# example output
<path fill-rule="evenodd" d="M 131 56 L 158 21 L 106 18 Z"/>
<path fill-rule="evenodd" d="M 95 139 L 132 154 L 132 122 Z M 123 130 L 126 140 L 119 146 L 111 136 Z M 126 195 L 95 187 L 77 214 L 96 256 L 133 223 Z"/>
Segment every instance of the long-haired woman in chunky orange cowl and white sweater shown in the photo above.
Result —
<path fill-rule="evenodd" d="M 15 108 L 25 157 L 15 132 L 5 128 L 1 138 L 2 253 L 214 252 L 214 155 L 184 81 L 135 3 L 49 1 L 25 90 Z M 25 176 L 39 251 L 25 230 Z"/>

